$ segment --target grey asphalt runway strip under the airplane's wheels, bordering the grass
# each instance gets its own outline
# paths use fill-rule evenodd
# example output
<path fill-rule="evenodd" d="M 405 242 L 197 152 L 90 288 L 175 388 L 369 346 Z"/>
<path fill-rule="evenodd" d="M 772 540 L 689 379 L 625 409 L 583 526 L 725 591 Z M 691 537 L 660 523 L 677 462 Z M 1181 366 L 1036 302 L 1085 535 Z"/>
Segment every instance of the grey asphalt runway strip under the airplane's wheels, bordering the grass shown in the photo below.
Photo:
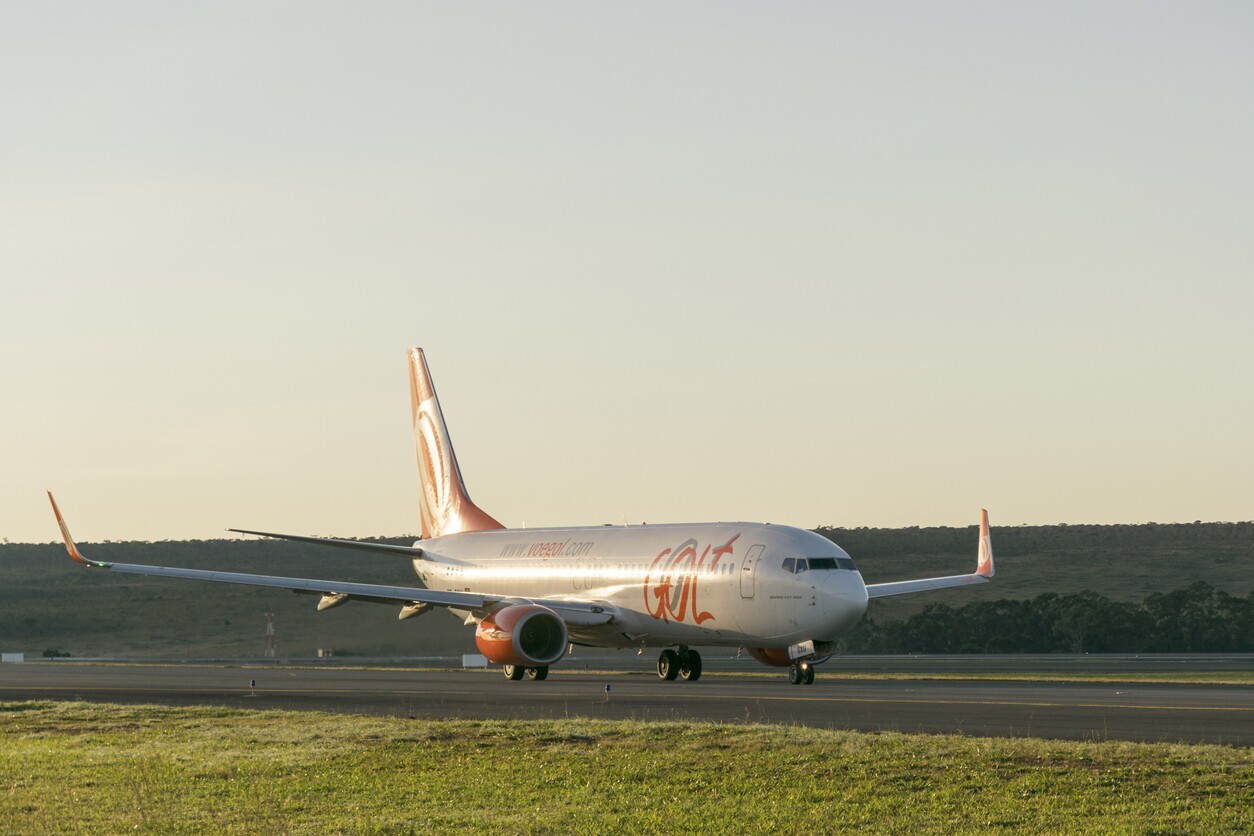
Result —
<path fill-rule="evenodd" d="M 509 682 L 497 669 L 28 662 L 0 666 L 0 699 L 229 706 L 415 718 L 789 723 L 865 732 L 1254 746 L 1251 686 L 838 676 L 820 676 L 813 686 L 790 686 L 782 674 L 720 676 L 715 671 L 688 683 L 662 682 L 648 673 L 598 674 L 561 668 L 554 668 L 545 682 Z"/>

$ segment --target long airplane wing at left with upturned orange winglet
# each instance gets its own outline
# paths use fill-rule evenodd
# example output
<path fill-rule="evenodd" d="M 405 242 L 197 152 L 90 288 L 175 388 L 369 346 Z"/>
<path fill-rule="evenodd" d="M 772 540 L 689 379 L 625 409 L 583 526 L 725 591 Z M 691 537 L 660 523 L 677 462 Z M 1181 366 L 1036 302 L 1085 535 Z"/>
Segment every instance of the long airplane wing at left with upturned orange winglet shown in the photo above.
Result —
<path fill-rule="evenodd" d="M 122 574 L 133 575 L 158 575 L 163 578 L 182 578 L 186 580 L 209 580 L 214 583 L 245 584 L 248 587 L 273 587 L 277 589 L 291 589 L 297 593 L 320 594 L 326 602 L 326 607 L 346 600 L 364 600 L 375 604 L 400 604 L 411 607 L 414 604 L 430 604 L 433 607 L 451 607 L 454 609 L 488 612 L 500 604 L 509 603 L 534 603 L 543 604 L 556 610 L 567 624 L 578 627 L 593 627 L 608 623 L 613 618 L 612 608 L 594 602 L 566 600 L 566 599 L 520 599 L 514 595 L 485 594 L 473 592 L 440 592 L 436 589 L 424 589 L 421 587 L 389 587 L 382 584 L 362 584 L 347 580 L 322 580 L 316 578 L 285 578 L 280 575 L 255 575 L 240 572 L 214 572 L 209 569 L 179 569 L 172 567 L 149 567 L 134 563 L 102 563 L 83 556 L 74 538 L 70 536 L 69 526 L 61 516 L 56 500 L 51 491 L 48 499 L 53 503 L 53 513 L 56 514 L 56 524 L 60 525 L 61 536 L 65 540 L 65 550 L 70 558 L 93 569 L 107 569 Z M 320 541 L 316 538 L 310 538 Z M 326 607 L 322 607 L 324 609 Z M 404 610 L 403 610 L 404 613 Z"/>

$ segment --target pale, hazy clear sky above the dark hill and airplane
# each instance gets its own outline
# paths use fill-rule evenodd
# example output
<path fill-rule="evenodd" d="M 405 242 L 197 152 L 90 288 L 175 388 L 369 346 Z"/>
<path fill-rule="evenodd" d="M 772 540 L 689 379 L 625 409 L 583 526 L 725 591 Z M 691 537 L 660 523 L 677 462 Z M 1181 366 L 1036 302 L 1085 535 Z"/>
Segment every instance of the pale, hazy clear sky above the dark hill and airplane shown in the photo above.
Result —
<path fill-rule="evenodd" d="M 0 541 L 1254 519 L 1254 6 L 0 0 Z"/>

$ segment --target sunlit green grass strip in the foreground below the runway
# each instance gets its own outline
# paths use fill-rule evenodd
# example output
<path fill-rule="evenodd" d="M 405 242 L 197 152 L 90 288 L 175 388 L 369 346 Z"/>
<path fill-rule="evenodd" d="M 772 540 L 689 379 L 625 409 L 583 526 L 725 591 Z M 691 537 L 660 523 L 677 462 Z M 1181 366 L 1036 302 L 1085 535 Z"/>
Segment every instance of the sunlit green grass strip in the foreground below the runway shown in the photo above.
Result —
<path fill-rule="evenodd" d="M 1249 832 L 1254 752 L 0 704 L 20 832 Z"/>

